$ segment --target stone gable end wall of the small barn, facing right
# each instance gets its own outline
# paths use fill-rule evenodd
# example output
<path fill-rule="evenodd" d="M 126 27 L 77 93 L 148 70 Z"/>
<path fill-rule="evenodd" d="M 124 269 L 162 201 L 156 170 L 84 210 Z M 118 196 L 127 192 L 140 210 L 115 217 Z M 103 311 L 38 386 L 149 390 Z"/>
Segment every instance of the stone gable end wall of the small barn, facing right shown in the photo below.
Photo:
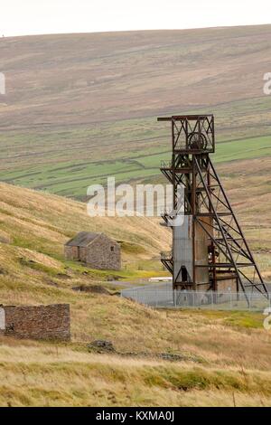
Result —
<path fill-rule="evenodd" d="M 119 270 L 121 267 L 119 244 L 111 241 L 106 235 L 100 235 L 87 248 L 86 263 L 92 269 Z"/>

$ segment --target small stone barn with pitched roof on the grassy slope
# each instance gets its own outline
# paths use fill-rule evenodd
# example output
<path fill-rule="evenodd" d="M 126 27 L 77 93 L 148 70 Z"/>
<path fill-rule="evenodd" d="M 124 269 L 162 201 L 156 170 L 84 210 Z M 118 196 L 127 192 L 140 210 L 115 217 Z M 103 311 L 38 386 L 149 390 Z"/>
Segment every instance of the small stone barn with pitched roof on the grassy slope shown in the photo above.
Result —
<path fill-rule="evenodd" d="M 119 270 L 121 252 L 117 241 L 104 233 L 80 231 L 64 245 L 67 260 L 82 261 L 91 269 Z"/>

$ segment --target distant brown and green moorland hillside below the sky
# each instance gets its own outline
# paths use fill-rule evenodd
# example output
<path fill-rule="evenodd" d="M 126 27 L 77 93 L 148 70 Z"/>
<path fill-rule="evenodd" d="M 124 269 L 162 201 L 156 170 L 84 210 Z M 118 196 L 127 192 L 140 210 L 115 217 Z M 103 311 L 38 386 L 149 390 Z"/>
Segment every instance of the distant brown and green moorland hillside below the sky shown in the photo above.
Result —
<path fill-rule="evenodd" d="M 269 157 L 270 35 L 261 25 L 2 38 L 0 179 L 80 199 L 107 175 L 157 179 L 169 134 L 155 118 L 178 112 L 215 113 L 227 142 L 218 163 Z"/>

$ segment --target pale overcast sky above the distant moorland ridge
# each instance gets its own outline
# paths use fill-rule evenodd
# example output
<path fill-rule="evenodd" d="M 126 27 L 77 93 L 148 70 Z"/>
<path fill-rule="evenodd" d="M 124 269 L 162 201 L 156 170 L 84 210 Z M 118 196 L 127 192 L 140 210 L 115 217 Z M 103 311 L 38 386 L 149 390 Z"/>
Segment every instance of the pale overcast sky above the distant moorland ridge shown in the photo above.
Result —
<path fill-rule="evenodd" d="M 0 34 L 269 24 L 270 0 L 0 0 Z"/>

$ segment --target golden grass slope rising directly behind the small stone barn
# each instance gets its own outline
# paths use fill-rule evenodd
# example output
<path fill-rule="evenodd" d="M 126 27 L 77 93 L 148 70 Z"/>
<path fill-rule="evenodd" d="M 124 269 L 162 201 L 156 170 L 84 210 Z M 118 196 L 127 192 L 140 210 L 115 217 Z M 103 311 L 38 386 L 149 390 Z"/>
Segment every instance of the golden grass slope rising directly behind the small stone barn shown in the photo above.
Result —
<path fill-rule="evenodd" d="M 0 193 L 0 236 L 26 248 L 61 256 L 62 244 L 76 231 L 107 231 L 119 241 L 138 245 L 141 256 L 150 258 L 170 241 L 170 233 L 152 218 L 90 218 L 84 203 L 10 184 L 1 183 Z"/>

